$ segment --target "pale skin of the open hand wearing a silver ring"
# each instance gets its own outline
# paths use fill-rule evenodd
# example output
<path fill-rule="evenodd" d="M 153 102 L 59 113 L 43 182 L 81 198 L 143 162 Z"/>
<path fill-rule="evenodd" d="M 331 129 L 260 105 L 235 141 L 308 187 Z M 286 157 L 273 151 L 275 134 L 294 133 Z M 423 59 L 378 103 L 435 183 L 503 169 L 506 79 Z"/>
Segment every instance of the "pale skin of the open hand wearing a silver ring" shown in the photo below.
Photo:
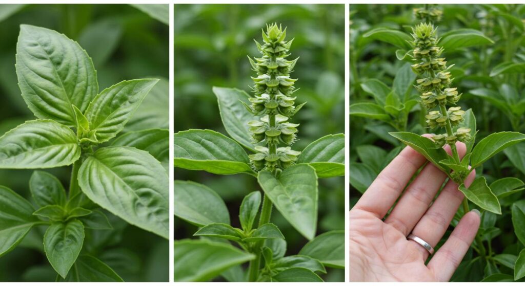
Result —
<path fill-rule="evenodd" d="M 458 142 L 456 147 L 463 157 L 465 144 Z M 445 149 L 450 152 L 448 146 Z M 412 233 L 435 247 L 464 198 L 458 185 L 448 181 L 434 200 L 447 175 L 431 163 L 408 185 L 426 162 L 406 147 L 350 211 L 351 281 L 449 281 L 456 271 L 478 232 L 479 212 L 470 211 L 461 218 L 427 265 L 428 251 L 406 238 Z M 474 178 L 472 171 L 465 185 Z"/>

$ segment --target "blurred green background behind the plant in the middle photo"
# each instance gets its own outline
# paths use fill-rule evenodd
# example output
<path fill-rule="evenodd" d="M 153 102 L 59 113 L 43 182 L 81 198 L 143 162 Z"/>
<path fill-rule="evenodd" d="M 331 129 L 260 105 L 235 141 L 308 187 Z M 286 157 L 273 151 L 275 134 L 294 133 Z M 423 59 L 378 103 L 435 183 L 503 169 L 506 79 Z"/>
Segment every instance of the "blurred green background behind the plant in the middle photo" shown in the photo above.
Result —
<path fill-rule="evenodd" d="M 301 150 L 328 134 L 344 133 L 344 5 L 179 5 L 174 6 L 175 132 L 190 128 L 226 134 L 212 92 L 213 86 L 236 87 L 251 93 L 255 76 L 247 56 L 259 57 L 253 39 L 269 23 L 288 27 L 295 38 L 290 59 L 300 57 L 292 78 L 294 95 L 308 102 L 293 118 L 300 123 Z M 225 200 L 232 225 L 240 226 L 238 209 L 249 192 L 259 190 L 248 175 L 218 176 L 175 170 L 176 180 L 205 184 Z M 288 242 L 287 255 L 297 254 L 307 240 L 278 211 L 272 212 Z M 319 180 L 318 234 L 344 229 L 344 178 Z M 196 227 L 175 218 L 175 239 L 192 237 Z M 329 269 L 325 281 L 344 281 L 344 272 Z"/>

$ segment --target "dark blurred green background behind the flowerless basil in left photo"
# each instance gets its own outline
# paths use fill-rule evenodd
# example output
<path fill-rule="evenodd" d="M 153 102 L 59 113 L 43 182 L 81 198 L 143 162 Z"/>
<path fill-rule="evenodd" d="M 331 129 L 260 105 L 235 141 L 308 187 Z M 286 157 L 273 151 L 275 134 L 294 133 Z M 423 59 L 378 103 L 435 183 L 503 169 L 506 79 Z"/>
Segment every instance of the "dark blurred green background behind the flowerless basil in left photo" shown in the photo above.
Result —
<path fill-rule="evenodd" d="M 169 11 L 165 6 L 0 5 L 0 134 L 34 119 L 20 96 L 15 72 L 20 24 L 54 29 L 78 41 L 95 64 L 100 91 L 122 80 L 162 79 L 146 97 L 141 113 L 165 115 L 164 126 L 149 128 L 168 128 L 169 27 L 165 24 L 167 16 L 157 16 L 159 10 Z M 140 120 L 132 121 L 127 130 L 147 126 Z M 70 167 L 46 171 L 57 175 L 68 188 Z M 31 200 L 31 173 L 32 170 L 0 170 L 0 184 Z M 124 281 L 169 281 L 168 241 L 108 212 L 106 215 L 114 229 L 87 232 L 82 251 L 107 263 Z M 34 228 L 22 244 L 0 258 L 0 281 L 55 281 L 56 272 L 43 251 L 44 231 L 45 228 Z"/>

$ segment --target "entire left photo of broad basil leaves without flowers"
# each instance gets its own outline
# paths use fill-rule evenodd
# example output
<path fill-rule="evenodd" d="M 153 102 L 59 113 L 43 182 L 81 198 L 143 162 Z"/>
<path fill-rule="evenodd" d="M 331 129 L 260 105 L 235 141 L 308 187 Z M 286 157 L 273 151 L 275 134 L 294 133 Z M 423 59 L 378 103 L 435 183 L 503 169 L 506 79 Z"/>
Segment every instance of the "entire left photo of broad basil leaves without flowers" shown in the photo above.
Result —
<path fill-rule="evenodd" d="M 167 280 L 163 10 L 0 5 L 0 279 Z"/>

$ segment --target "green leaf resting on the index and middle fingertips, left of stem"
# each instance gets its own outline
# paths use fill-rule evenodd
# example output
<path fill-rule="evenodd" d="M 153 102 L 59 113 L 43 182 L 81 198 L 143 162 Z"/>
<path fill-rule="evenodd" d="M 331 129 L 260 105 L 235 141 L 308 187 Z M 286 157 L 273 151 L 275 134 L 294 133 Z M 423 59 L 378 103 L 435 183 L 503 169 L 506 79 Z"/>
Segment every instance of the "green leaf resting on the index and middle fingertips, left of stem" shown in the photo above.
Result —
<path fill-rule="evenodd" d="M 448 173 L 448 167 L 439 163 L 439 161 L 448 159 L 447 152 L 445 152 L 443 148 L 437 148 L 434 141 L 410 132 L 390 132 L 388 134 L 414 148 L 414 150 L 433 163 L 434 166 L 443 172 Z"/>

